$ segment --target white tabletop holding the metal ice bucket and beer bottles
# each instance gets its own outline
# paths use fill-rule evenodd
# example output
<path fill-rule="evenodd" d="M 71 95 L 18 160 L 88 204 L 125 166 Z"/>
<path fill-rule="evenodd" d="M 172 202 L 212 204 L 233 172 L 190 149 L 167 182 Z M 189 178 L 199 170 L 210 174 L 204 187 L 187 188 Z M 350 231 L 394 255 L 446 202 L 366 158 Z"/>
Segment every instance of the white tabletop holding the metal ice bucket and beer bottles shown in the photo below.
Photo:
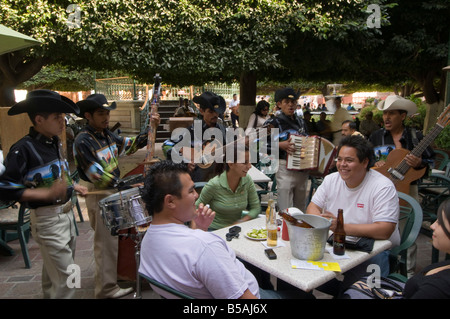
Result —
<path fill-rule="evenodd" d="M 284 280 L 285 282 L 303 290 L 311 291 L 314 288 L 324 284 L 325 282 L 336 278 L 339 273 L 327 270 L 310 270 L 310 269 L 294 269 L 291 266 L 291 247 L 289 241 L 283 241 L 281 238 L 278 240 L 285 244 L 284 247 L 274 248 L 277 254 L 277 259 L 269 260 L 264 249 L 266 247 L 261 241 L 255 241 L 248 239 L 244 236 L 248 231 L 254 228 L 265 227 L 265 218 L 255 218 L 248 222 L 239 224 L 242 228 L 239 238 L 233 238 L 228 241 L 228 245 L 233 248 L 236 255 L 251 263 L 252 265 L 274 275 L 275 277 Z M 225 234 L 228 232 L 230 227 L 222 228 L 214 231 L 215 234 L 226 240 Z M 331 247 L 327 244 L 328 247 Z M 326 250 L 324 257 L 321 262 L 338 262 L 341 268 L 341 272 L 346 272 L 347 270 L 363 263 L 364 261 L 370 259 L 374 255 L 389 249 L 391 242 L 388 240 L 376 240 L 373 250 L 370 254 L 354 251 L 347 249 L 346 254 L 350 257 L 349 259 L 335 260 L 332 255 L 330 255 Z"/>

